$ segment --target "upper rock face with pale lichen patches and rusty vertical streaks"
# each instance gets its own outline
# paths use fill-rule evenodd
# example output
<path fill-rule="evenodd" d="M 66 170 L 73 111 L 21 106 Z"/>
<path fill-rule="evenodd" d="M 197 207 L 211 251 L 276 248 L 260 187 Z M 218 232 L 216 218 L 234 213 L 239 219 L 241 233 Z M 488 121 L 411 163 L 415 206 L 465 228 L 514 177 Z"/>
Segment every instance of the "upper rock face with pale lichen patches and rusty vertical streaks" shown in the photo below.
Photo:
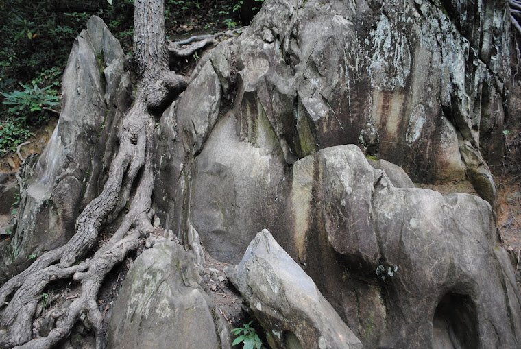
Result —
<path fill-rule="evenodd" d="M 485 160 L 502 154 L 507 3 L 463 3 L 269 1 L 232 53 L 237 104 L 258 99 L 289 163 L 358 144 L 415 181 L 466 173 L 492 202 Z"/>

